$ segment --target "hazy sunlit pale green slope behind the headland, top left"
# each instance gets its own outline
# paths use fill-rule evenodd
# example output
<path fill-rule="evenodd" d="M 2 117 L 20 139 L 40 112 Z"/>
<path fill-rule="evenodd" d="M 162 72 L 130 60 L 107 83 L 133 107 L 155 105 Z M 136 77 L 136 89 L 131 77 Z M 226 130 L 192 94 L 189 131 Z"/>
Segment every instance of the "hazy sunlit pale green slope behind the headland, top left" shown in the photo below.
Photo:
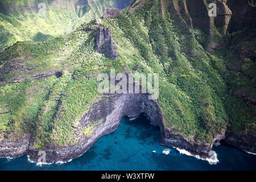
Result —
<path fill-rule="evenodd" d="M 39 3 L 45 3 L 46 15 L 38 14 Z M 1 1 L 0 2 L 0 51 L 22 41 L 44 41 L 66 35 L 82 23 L 101 17 L 106 7 L 120 9 L 129 5 L 117 0 L 76 1 Z"/>

